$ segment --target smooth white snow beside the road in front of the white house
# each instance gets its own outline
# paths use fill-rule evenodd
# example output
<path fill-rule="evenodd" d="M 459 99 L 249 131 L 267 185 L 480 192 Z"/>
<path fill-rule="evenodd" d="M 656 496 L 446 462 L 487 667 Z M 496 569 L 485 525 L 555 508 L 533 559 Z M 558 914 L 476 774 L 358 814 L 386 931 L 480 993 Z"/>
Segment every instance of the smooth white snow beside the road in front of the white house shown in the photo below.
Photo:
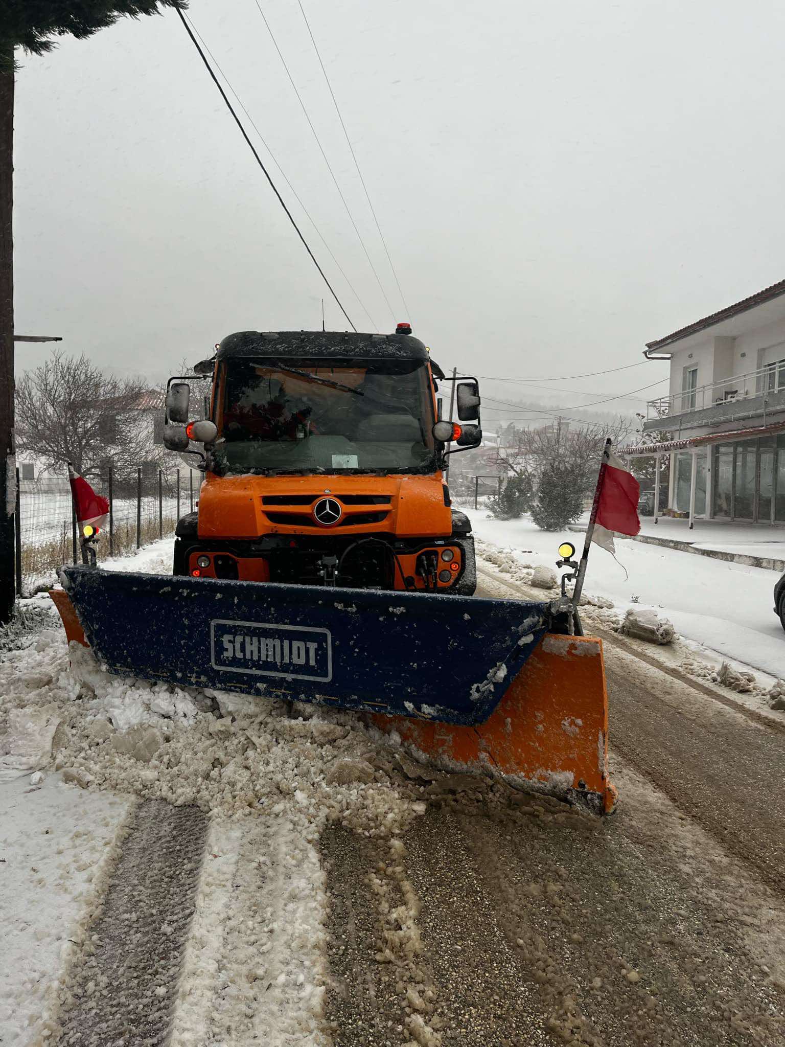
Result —
<path fill-rule="evenodd" d="M 579 554 L 583 548 L 582 534 L 540 531 L 529 517 L 497 520 L 486 510 L 465 512 L 478 538 L 509 549 L 520 563 L 553 567 L 560 542 L 571 541 Z M 771 676 L 785 675 L 785 632 L 772 609 L 776 572 L 624 538 L 615 545 L 619 562 L 592 548 L 585 593 L 612 600 L 620 611 L 654 608 L 682 637 Z"/>

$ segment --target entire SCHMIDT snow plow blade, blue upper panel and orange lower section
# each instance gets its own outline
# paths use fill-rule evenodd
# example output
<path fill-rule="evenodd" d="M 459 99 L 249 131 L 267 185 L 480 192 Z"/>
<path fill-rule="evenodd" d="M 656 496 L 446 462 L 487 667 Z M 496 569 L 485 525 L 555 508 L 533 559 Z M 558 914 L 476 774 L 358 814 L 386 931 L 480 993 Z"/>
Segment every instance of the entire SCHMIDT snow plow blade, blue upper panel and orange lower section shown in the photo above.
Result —
<path fill-rule="evenodd" d="M 600 642 L 543 645 L 548 602 L 83 566 L 60 577 L 68 639 L 111 673 L 384 714 L 377 726 L 426 758 L 612 806 Z"/>

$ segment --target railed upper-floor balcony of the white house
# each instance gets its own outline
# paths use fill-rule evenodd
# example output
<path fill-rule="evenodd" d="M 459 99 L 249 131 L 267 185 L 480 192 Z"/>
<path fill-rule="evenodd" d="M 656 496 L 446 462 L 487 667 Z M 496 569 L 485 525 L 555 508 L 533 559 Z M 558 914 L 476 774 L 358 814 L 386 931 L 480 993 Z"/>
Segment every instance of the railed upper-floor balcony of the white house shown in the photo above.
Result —
<path fill-rule="evenodd" d="M 785 367 L 761 367 L 647 404 L 644 432 L 711 428 L 727 422 L 765 425 L 785 411 Z M 752 427 L 752 425 L 750 425 Z"/>

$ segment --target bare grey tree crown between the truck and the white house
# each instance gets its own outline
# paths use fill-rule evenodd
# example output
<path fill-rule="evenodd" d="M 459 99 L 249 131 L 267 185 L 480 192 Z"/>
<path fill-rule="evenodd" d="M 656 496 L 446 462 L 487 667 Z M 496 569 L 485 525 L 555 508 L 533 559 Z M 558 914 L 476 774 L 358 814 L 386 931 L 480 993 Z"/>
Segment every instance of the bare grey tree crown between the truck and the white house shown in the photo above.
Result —
<path fill-rule="evenodd" d="M 603 425 L 565 423 L 559 418 L 552 425 L 532 429 L 516 429 L 512 446 L 499 447 L 498 463 L 520 476 L 529 473 L 538 481 L 543 473 L 559 466 L 566 469 L 581 494 L 591 493 L 608 437 L 614 445 L 626 443 L 634 432 L 632 423 L 619 418 Z"/>

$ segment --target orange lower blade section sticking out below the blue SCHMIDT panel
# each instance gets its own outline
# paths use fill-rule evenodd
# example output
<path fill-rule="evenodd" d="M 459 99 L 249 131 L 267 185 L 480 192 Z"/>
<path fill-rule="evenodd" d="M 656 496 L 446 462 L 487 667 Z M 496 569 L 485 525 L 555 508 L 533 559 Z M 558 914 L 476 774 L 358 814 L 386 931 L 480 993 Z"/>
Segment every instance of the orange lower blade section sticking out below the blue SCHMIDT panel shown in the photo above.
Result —
<path fill-rule="evenodd" d="M 513 785 L 610 814 L 608 694 L 602 641 L 547 633 L 495 711 L 476 727 L 374 715 L 424 762 L 497 774 Z"/>

